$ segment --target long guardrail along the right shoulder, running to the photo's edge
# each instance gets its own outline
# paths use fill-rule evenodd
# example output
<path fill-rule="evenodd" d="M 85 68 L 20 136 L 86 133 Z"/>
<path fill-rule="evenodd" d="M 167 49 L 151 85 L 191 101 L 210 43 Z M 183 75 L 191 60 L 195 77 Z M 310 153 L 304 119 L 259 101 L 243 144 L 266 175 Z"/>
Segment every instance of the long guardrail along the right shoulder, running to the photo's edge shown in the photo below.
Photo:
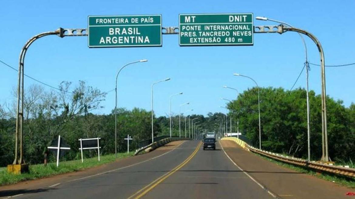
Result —
<path fill-rule="evenodd" d="M 232 141 L 236 142 L 237 144 L 239 144 L 240 146 L 242 146 L 243 148 L 249 149 L 250 151 L 252 151 L 254 153 L 258 153 L 263 156 L 266 156 L 266 157 L 269 157 L 272 159 L 276 159 L 276 160 L 279 160 L 279 161 L 282 161 L 285 163 L 308 167 L 311 169 L 315 169 L 318 171 L 324 171 L 324 172 L 328 172 L 331 174 L 337 174 L 337 175 L 342 175 L 342 176 L 346 176 L 346 177 L 355 177 L 355 169 L 353 169 L 353 168 L 348 168 L 348 167 L 344 167 L 344 166 L 329 165 L 329 164 L 324 164 L 324 163 L 316 162 L 316 161 L 308 161 L 308 160 L 301 159 L 301 158 L 294 158 L 294 157 L 289 157 L 289 156 L 285 156 L 285 155 L 281 155 L 281 154 L 277 154 L 277 153 L 268 152 L 266 150 L 260 150 L 258 148 L 252 147 L 249 144 L 245 143 L 244 141 L 234 138 L 234 137 L 233 138 L 228 137 L 228 138 L 223 138 L 223 139 L 232 140 Z"/>

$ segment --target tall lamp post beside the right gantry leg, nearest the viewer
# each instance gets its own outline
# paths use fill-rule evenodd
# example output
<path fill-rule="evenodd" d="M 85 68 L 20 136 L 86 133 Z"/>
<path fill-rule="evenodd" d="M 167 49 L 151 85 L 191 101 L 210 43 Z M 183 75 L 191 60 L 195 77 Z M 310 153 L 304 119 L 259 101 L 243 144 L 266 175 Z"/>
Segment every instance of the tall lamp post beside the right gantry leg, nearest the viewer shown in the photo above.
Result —
<path fill-rule="evenodd" d="M 289 23 L 285 23 L 282 21 L 278 21 L 275 19 L 270 19 L 267 17 L 256 17 L 256 19 L 258 20 L 263 20 L 263 21 L 273 21 L 273 22 L 277 22 L 277 23 L 282 23 L 285 24 L 289 27 L 293 27 L 292 25 L 290 25 Z M 298 32 L 297 32 L 298 33 Z M 305 39 L 303 38 L 303 36 L 301 35 L 301 33 L 298 33 L 298 35 L 300 35 L 302 43 L 305 47 L 305 58 L 306 58 L 306 97 L 307 97 L 307 142 L 308 142 L 308 161 L 311 161 L 311 147 L 310 147 L 310 136 L 311 136 L 311 130 L 310 130 L 310 107 L 309 107 L 309 97 L 308 97 L 308 60 L 307 60 L 307 45 L 305 42 Z"/>

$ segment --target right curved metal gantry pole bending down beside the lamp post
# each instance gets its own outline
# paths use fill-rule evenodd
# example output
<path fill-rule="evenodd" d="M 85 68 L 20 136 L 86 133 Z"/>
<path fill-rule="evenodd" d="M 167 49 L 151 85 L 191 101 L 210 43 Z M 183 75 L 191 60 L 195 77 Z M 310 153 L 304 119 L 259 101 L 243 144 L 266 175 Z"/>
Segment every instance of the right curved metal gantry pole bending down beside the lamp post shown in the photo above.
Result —
<path fill-rule="evenodd" d="M 282 26 L 282 33 L 286 31 L 293 31 L 297 33 L 302 33 L 307 35 L 309 38 L 315 42 L 318 47 L 318 51 L 320 53 L 321 58 L 321 79 L 322 79 L 322 161 L 329 161 L 328 155 L 328 133 L 327 133 L 327 95 L 326 95 L 326 75 L 325 75 L 325 67 L 324 67 L 324 51 L 322 48 L 321 43 L 318 39 L 311 33 L 307 32 L 306 30 L 302 30 L 299 28 L 294 27 L 284 27 Z"/>

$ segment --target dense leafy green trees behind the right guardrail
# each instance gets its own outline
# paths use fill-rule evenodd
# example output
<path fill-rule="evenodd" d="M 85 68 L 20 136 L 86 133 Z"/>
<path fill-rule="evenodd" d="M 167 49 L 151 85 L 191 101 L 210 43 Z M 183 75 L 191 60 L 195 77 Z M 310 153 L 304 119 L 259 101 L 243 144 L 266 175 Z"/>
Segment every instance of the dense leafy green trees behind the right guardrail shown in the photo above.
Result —
<path fill-rule="evenodd" d="M 228 104 L 233 119 L 239 118 L 243 134 L 259 146 L 258 90 L 249 89 Z M 321 96 L 309 92 L 311 159 L 322 156 Z M 262 148 L 307 158 L 306 91 L 260 88 Z M 327 98 L 329 156 L 348 161 L 355 159 L 355 104 Z"/>

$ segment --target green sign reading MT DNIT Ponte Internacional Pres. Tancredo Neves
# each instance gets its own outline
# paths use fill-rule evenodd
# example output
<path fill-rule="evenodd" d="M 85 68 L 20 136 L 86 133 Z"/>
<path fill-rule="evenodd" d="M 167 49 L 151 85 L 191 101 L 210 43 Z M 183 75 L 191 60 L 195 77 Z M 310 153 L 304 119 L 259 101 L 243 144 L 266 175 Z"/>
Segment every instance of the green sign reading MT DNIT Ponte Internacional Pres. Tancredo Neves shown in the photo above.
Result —
<path fill-rule="evenodd" d="M 180 46 L 253 45 L 253 14 L 180 14 Z"/>

